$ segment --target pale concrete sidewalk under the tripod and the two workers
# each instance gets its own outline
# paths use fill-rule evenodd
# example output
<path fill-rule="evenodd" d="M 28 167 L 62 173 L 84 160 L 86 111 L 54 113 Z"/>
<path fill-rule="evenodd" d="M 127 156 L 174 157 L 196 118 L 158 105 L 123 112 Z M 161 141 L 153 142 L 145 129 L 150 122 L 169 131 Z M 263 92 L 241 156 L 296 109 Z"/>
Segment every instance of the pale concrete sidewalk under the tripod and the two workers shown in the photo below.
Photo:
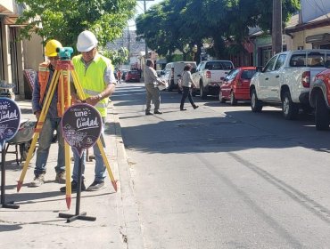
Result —
<path fill-rule="evenodd" d="M 35 121 L 31 102 L 18 100 L 21 119 Z M 57 144 L 52 144 L 47 161 L 45 184 L 29 188 L 33 180 L 36 155 L 19 193 L 17 181 L 22 165 L 16 165 L 15 155 L 5 157 L 5 200 L 14 201 L 19 209 L 0 208 L 1 248 L 143 248 L 141 228 L 138 221 L 129 176 L 129 165 L 120 133 L 120 123 L 110 103 L 108 121 L 105 126 L 105 154 L 111 171 L 117 180 L 118 191 L 112 188 L 109 175 L 105 179 L 106 188 L 100 191 L 83 191 L 80 198 L 80 213 L 86 212 L 96 221 L 72 221 L 59 218 L 58 213 L 75 214 L 76 193 L 72 193 L 70 210 L 66 207 L 64 185 L 54 182 L 54 166 L 57 162 Z M 13 150 L 10 146 L 9 150 Z M 90 154 L 93 149 L 90 149 Z M 71 164 L 72 170 L 73 164 Z M 94 181 L 95 161 L 87 162 L 86 186 Z"/>

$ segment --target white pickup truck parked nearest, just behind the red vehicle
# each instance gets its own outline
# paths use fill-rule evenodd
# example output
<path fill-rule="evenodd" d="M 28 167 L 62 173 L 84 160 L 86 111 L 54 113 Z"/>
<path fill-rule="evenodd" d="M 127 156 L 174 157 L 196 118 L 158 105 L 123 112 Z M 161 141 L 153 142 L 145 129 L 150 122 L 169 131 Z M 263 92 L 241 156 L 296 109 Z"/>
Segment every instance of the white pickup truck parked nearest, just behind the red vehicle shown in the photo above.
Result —
<path fill-rule="evenodd" d="M 251 108 L 260 112 L 265 105 L 281 105 L 285 119 L 294 119 L 299 109 L 308 111 L 310 79 L 326 69 L 330 50 L 297 50 L 279 52 L 250 83 Z"/>

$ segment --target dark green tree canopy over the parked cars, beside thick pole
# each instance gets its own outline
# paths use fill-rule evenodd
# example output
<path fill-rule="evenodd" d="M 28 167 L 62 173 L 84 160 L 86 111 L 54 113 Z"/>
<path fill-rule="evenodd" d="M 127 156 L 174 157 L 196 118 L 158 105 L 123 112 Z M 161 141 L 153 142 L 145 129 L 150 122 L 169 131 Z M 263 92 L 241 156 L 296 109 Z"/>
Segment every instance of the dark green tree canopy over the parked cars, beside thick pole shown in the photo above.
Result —
<path fill-rule="evenodd" d="M 299 0 L 282 0 L 283 21 L 299 9 Z M 153 5 L 136 19 L 136 33 L 148 47 L 163 56 L 189 44 L 198 45 L 196 58 L 204 39 L 209 39 L 208 52 L 221 58 L 243 50 L 249 28 L 259 26 L 271 32 L 273 0 L 164 0 Z M 227 52 L 225 42 L 235 44 Z M 184 52 L 184 57 L 185 57 Z"/>

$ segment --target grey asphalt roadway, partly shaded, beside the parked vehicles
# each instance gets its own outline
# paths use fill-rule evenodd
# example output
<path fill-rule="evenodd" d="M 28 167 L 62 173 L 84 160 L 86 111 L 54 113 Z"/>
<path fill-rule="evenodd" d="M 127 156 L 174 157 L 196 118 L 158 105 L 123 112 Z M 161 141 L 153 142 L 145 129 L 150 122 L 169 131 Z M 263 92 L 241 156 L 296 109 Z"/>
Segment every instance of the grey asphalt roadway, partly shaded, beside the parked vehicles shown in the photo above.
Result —
<path fill-rule="evenodd" d="M 144 116 L 144 84 L 120 84 L 120 116 L 144 248 L 328 248 L 328 133 L 313 116 L 254 114 L 216 98 Z"/>

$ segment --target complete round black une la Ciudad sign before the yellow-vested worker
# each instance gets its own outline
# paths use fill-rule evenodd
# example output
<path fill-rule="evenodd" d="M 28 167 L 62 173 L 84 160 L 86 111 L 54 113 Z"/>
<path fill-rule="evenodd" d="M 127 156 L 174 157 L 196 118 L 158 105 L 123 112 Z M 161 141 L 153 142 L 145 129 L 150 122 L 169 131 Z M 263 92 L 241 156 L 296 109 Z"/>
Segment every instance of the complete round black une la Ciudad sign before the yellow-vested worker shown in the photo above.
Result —
<path fill-rule="evenodd" d="M 62 133 L 70 147 L 81 157 L 84 149 L 92 147 L 100 137 L 102 119 L 96 108 L 88 104 L 76 104 L 68 108 L 62 117 Z"/>

